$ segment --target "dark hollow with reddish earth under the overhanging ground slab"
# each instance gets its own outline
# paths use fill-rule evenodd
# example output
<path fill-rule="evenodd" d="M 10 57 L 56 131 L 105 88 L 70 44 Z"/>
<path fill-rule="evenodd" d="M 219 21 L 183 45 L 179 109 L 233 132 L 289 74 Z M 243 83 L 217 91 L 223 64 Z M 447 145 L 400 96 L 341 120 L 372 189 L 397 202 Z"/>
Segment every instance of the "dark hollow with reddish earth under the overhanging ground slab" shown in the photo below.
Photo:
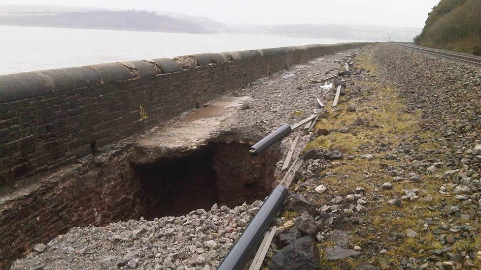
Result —
<path fill-rule="evenodd" d="M 146 219 L 178 216 L 213 204 L 234 207 L 263 200 L 275 181 L 279 153 L 250 156 L 241 143 L 210 143 L 182 157 L 134 165 L 140 214 Z"/>

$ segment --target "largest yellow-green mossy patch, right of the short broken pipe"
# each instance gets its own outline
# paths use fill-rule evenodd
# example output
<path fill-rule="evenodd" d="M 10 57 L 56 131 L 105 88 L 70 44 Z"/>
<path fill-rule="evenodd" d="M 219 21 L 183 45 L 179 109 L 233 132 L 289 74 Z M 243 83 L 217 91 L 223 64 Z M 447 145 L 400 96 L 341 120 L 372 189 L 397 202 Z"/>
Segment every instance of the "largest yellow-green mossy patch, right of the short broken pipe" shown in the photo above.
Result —
<path fill-rule="evenodd" d="M 402 113 L 404 99 L 397 90 L 375 82 L 358 81 L 355 84 L 376 88 L 376 97 L 357 103 L 355 112 L 348 111 L 349 102 L 339 104 L 338 109 L 342 111 L 336 118 L 333 117 L 338 112 L 331 110 L 316 124 L 316 128 L 327 129 L 331 133 L 311 141 L 306 150 L 338 148 L 349 155 L 356 153 L 362 144 L 378 139 L 395 146 L 403 140 L 404 134 L 411 134 L 417 128 L 416 120 L 420 119 L 420 113 Z M 362 95 L 368 96 L 368 93 Z M 349 127 L 349 133 L 338 132 L 345 127 Z"/>

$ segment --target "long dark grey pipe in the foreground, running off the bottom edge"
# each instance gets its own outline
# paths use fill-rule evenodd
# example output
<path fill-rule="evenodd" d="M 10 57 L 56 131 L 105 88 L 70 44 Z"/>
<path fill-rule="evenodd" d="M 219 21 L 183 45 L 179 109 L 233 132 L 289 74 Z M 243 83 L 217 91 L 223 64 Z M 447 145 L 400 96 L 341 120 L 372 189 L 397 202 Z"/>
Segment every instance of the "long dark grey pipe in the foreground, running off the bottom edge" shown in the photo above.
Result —
<path fill-rule="evenodd" d="M 247 228 L 245 228 L 239 240 L 229 250 L 224 260 L 220 262 L 217 270 L 243 269 L 286 197 L 287 188 L 283 185 L 276 186 Z"/>

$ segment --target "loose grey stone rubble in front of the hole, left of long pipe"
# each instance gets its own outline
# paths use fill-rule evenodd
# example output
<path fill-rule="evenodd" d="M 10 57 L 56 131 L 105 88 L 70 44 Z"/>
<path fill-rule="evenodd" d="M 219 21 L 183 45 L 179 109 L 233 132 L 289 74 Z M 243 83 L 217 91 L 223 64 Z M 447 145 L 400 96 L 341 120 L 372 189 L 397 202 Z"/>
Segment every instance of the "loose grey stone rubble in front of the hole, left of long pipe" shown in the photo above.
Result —
<path fill-rule="evenodd" d="M 35 245 L 11 269 L 215 269 L 261 206 L 214 205 L 179 217 L 72 228 Z"/>

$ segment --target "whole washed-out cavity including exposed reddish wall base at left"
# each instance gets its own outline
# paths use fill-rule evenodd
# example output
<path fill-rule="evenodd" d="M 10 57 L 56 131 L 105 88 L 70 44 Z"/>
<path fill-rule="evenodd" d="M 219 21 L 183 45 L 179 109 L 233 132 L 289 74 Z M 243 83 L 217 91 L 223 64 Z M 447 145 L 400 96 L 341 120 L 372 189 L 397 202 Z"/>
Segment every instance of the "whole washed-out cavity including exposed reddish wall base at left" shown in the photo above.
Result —
<path fill-rule="evenodd" d="M 92 149 L 96 149 L 93 145 Z M 164 151 L 162 149 L 160 151 Z M 118 151 L 89 159 L 86 171 L 71 171 L 57 186 L 2 212 L 0 269 L 34 244 L 48 242 L 69 228 L 105 226 L 119 220 L 179 216 L 217 203 L 234 207 L 263 200 L 275 181 L 278 145 L 250 156 L 249 145 L 211 142 L 199 150 L 175 152 L 149 161 L 145 151 Z M 155 150 L 154 150 L 155 151 Z M 168 150 L 167 150 L 168 151 Z M 134 153 L 135 152 L 135 153 Z M 130 156 L 130 158 L 129 158 Z M 142 164 L 133 164 L 142 160 Z M 87 164 L 88 165 L 88 164 Z"/>

